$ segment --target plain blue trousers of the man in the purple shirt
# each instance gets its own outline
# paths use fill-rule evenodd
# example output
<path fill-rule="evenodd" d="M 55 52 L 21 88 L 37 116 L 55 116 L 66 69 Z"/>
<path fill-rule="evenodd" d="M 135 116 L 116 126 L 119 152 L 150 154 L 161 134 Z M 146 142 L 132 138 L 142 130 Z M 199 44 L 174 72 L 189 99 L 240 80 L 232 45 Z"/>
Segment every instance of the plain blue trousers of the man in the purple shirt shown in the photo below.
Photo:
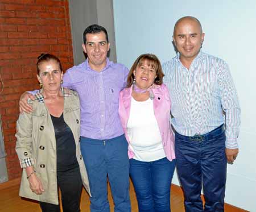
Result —
<path fill-rule="evenodd" d="M 109 140 L 81 137 L 81 152 L 88 172 L 90 211 L 109 212 L 107 175 L 115 212 L 131 211 L 128 143 L 124 135 Z"/>

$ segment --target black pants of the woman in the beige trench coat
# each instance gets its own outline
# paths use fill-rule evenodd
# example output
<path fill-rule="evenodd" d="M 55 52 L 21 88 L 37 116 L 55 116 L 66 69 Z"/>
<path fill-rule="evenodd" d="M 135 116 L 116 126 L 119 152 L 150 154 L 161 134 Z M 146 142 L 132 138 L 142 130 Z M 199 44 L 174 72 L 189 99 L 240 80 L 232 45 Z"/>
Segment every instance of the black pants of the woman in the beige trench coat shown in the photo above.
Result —
<path fill-rule="evenodd" d="M 57 185 L 61 192 L 63 212 L 80 212 L 82 180 L 79 167 L 57 172 Z M 60 205 L 39 202 L 43 212 L 60 212 Z"/>

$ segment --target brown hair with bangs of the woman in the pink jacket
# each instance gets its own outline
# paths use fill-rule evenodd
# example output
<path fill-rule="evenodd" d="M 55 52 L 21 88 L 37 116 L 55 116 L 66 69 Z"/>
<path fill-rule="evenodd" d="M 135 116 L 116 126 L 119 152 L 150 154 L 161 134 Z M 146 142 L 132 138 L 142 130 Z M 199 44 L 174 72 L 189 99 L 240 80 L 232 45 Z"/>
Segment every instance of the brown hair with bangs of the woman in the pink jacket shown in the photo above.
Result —
<path fill-rule="evenodd" d="M 130 86 L 133 85 L 133 80 L 134 80 L 133 71 L 137 68 L 137 66 L 141 66 L 144 60 L 147 60 L 151 68 L 154 68 L 156 70 L 156 78 L 155 78 L 154 84 L 161 85 L 163 83 L 164 73 L 158 57 L 147 53 L 139 56 L 135 60 L 133 66 L 131 66 L 130 72 L 127 77 L 127 88 L 130 88 Z"/>

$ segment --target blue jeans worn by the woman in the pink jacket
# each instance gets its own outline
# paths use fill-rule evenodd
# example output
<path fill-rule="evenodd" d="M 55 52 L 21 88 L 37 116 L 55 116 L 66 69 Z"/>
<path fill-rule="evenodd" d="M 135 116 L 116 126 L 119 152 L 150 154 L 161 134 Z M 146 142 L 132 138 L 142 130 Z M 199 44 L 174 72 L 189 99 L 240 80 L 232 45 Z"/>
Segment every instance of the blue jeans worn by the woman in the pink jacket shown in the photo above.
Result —
<path fill-rule="evenodd" d="M 139 212 L 170 212 L 170 187 L 175 160 L 166 157 L 143 162 L 130 159 L 130 176 L 137 196 Z"/>

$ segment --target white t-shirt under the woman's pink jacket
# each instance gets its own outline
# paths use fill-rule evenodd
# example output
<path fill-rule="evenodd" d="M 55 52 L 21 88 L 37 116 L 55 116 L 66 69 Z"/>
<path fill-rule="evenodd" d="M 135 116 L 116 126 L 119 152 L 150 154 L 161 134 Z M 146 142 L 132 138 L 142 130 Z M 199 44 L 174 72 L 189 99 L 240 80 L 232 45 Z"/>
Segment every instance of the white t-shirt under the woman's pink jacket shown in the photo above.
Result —
<path fill-rule="evenodd" d="M 131 97 L 127 134 L 130 140 L 129 147 L 135 154 L 133 159 L 148 162 L 166 157 L 153 101 L 150 98 L 139 102 Z"/>

